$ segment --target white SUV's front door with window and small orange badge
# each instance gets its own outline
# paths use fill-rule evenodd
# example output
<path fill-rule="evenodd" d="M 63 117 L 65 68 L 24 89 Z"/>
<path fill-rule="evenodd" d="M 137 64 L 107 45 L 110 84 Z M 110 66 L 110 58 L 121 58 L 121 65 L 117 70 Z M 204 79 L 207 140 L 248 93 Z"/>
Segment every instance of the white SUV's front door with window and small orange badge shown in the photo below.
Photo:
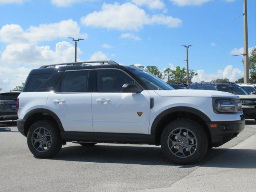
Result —
<path fill-rule="evenodd" d="M 125 83 L 136 82 L 118 69 L 96 71 L 97 92 L 92 93 L 94 132 L 148 134 L 150 94 L 123 93 Z"/>

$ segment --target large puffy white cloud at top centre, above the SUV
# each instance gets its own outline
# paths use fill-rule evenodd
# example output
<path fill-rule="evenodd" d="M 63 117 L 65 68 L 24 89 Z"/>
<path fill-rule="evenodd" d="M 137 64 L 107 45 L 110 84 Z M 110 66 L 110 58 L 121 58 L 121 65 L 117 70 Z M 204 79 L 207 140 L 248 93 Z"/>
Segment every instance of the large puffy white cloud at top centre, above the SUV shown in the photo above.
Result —
<path fill-rule="evenodd" d="M 103 27 L 117 30 L 139 30 L 144 25 L 160 24 L 168 27 L 178 27 L 182 24 L 179 18 L 172 16 L 153 15 L 149 16 L 138 6 L 126 2 L 124 4 L 102 5 L 101 11 L 94 11 L 81 18 L 85 26 Z"/>

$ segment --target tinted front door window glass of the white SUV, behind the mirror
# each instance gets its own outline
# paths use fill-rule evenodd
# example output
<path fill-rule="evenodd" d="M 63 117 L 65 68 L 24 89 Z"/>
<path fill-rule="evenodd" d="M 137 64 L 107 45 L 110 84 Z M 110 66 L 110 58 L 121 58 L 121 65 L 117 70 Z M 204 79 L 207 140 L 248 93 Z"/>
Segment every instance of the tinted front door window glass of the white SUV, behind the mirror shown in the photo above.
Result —
<path fill-rule="evenodd" d="M 134 80 L 120 70 L 96 70 L 98 92 L 121 92 L 125 83 L 135 84 Z"/>

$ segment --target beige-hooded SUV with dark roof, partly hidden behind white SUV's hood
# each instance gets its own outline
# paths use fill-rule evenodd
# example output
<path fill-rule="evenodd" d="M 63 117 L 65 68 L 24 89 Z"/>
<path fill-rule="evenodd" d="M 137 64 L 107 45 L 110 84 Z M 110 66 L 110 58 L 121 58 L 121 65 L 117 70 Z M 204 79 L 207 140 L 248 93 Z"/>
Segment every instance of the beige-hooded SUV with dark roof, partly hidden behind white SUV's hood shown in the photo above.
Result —
<path fill-rule="evenodd" d="M 229 92 L 238 95 L 242 101 L 242 110 L 244 117 L 256 120 L 256 95 L 248 94 L 242 87 L 231 82 L 220 83 L 195 83 L 188 85 L 190 89 L 198 90 L 216 90 Z"/>

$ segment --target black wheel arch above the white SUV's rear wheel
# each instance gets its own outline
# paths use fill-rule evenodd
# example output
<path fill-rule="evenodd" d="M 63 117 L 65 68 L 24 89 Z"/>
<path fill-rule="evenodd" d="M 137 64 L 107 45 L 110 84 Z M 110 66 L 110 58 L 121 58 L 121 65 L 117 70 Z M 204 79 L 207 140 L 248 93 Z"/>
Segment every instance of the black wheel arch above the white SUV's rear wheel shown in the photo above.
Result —
<path fill-rule="evenodd" d="M 58 116 L 52 112 L 51 110 L 45 109 L 45 108 L 36 108 L 31 111 L 29 111 L 25 116 L 24 116 L 25 124 L 24 124 L 24 134 L 27 135 L 28 130 L 30 126 L 38 121 L 38 120 L 52 120 L 59 128 L 60 132 L 64 131 L 64 128 L 62 126 L 62 123 Z"/>

